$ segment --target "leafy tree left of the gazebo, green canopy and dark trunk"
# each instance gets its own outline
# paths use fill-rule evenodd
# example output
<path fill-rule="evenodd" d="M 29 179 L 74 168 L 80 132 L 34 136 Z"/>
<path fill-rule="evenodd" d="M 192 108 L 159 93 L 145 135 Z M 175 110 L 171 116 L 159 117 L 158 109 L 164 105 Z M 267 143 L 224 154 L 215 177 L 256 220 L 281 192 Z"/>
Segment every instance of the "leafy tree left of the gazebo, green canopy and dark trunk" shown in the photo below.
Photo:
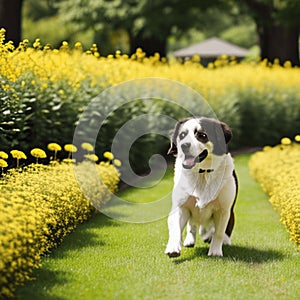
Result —
<path fill-rule="evenodd" d="M 125 29 L 131 53 L 141 47 L 147 55 L 166 55 L 167 39 L 174 27 L 184 32 L 203 24 L 209 7 L 227 5 L 222 0 L 57 0 L 60 14 L 78 29 L 101 32 L 108 26 Z M 101 50 L 101 45 L 100 45 Z"/>

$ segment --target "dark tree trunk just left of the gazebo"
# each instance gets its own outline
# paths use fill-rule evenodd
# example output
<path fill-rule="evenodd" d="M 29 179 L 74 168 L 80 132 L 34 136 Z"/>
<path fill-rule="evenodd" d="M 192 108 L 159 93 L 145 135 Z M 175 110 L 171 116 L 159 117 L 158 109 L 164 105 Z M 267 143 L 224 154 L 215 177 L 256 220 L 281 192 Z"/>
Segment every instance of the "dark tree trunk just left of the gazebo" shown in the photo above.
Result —
<path fill-rule="evenodd" d="M 142 37 L 141 35 L 130 37 L 130 52 L 136 52 L 137 48 L 142 48 L 147 56 L 159 53 L 161 57 L 166 57 L 167 42 L 166 39 L 158 39 L 157 37 Z"/>

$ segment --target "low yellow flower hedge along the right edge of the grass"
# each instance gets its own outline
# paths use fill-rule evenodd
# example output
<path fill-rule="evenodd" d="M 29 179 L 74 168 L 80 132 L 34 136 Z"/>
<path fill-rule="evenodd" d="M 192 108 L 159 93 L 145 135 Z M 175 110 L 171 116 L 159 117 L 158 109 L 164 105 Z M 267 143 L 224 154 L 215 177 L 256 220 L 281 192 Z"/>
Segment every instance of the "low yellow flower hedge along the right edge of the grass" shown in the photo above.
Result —
<path fill-rule="evenodd" d="M 300 141 L 299 136 L 295 141 Z M 300 249 L 300 144 L 283 138 L 275 147 L 265 147 L 250 160 L 250 172 L 270 195 L 280 220 Z"/>

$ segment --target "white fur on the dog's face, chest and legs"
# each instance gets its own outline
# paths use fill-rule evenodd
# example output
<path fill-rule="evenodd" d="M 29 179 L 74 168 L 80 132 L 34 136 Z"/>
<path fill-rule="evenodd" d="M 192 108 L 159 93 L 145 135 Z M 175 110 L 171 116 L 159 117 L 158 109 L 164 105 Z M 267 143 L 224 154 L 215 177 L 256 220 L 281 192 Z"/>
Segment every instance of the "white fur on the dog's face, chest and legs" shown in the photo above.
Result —
<path fill-rule="evenodd" d="M 197 120 L 189 120 L 181 127 L 180 132 L 188 130 L 188 134 L 183 140 L 177 139 L 172 209 L 168 218 L 169 241 L 165 253 L 170 257 L 180 255 L 182 232 L 187 224 L 184 246 L 194 246 L 199 231 L 203 240 L 211 240 L 208 255 L 223 256 L 222 244 L 231 242 L 225 230 L 236 193 L 233 159 L 229 153 L 214 155 L 212 143 L 201 143 L 195 138 L 195 128 L 201 129 Z M 195 157 L 204 149 L 209 153 L 191 169 L 183 167 L 185 154 L 181 144 L 187 142 L 191 144 L 190 154 Z M 214 171 L 200 174 L 200 168 Z"/>

